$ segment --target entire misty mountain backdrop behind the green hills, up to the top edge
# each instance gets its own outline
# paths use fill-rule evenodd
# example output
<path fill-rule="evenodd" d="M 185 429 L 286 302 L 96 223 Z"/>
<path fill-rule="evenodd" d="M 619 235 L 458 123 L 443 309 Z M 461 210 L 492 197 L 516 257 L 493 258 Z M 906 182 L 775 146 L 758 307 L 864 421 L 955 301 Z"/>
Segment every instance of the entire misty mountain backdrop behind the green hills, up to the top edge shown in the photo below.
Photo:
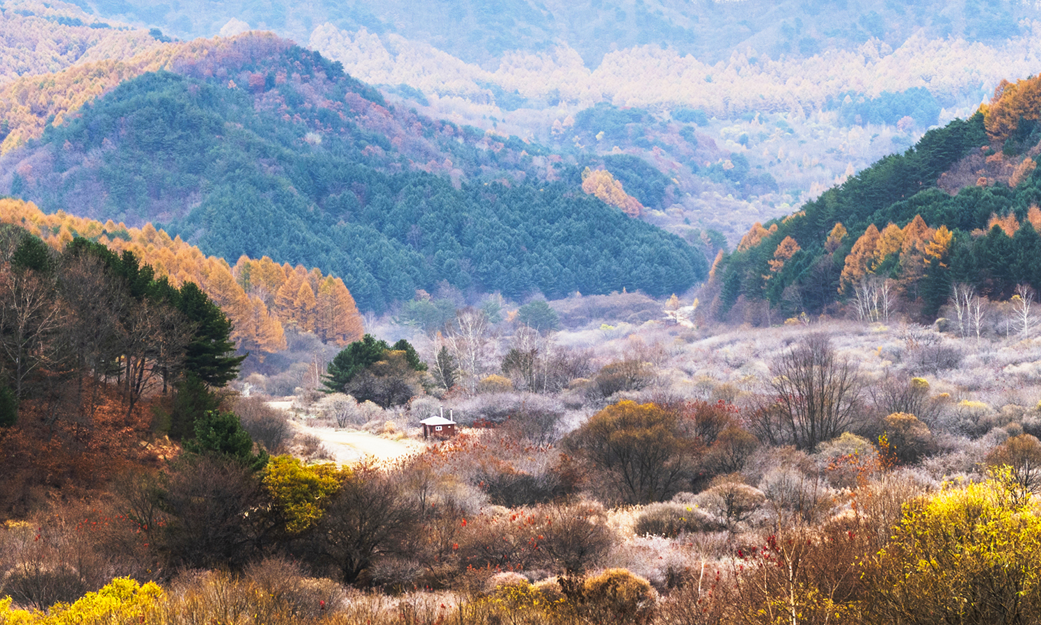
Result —
<path fill-rule="evenodd" d="M 272 29 L 428 117 L 637 156 L 675 184 L 646 219 L 732 245 L 1041 63 L 1041 10 L 1001 0 L 81 5 L 178 36 Z M 604 105 L 643 115 L 581 124 Z"/>

